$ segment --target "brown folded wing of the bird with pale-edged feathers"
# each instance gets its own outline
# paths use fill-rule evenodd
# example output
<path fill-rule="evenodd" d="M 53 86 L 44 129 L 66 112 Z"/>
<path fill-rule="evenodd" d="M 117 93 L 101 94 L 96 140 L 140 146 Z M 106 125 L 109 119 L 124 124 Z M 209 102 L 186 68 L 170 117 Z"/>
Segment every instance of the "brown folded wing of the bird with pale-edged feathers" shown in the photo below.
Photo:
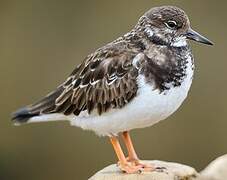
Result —
<path fill-rule="evenodd" d="M 64 90 L 56 98 L 54 109 L 43 113 L 79 115 L 84 110 L 97 110 L 102 114 L 109 108 L 123 107 L 137 92 L 134 56 L 109 50 L 89 56 L 62 85 Z"/>

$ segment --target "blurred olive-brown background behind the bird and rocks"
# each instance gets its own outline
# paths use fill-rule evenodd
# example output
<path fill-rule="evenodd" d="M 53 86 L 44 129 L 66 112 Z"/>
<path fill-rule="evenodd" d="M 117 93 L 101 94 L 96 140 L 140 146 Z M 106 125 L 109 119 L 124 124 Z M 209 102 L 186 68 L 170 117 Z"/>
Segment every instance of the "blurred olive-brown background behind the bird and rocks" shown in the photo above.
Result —
<path fill-rule="evenodd" d="M 15 127 L 10 114 L 53 90 L 83 58 L 129 31 L 148 9 L 183 8 L 195 30 L 215 42 L 193 43 L 196 74 L 184 105 L 168 120 L 135 130 L 143 159 L 201 170 L 227 153 L 227 1 L 1 0 L 0 179 L 87 179 L 116 161 L 107 138 L 51 122 Z"/>

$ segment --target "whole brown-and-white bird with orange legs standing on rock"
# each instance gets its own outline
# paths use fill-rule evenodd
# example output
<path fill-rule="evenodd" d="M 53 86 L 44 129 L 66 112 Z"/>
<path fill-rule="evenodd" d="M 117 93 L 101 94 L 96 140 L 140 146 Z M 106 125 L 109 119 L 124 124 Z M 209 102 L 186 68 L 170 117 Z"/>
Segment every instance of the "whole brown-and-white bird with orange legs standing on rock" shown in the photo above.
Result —
<path fill-rule="evenodd" d="M 154 171 L 139 159 L 129 131 L 168 118 L 186 99 L 194 74 L 188 40 L 213 45 L 192 29 L 184 10 L 151 8 L 128 33 L 85 57 L 54 91 L 14 112 L 12 121 L 69 121 L 109 137 L 121 171 Z"/>

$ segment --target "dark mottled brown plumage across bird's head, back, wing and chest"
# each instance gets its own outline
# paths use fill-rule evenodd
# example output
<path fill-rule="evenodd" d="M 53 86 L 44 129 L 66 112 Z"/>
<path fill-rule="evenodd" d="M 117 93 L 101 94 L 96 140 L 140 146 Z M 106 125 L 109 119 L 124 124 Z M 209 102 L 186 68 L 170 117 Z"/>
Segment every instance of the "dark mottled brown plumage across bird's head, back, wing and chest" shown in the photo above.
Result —
<path fill-rule="evenodd" d="M 170 28 L 170 21 L 176 26 Z M 87 56 L 56 91 L 36 104 L 19 110 L 13 116 L 25 122 L 32 116 L 49 113 L 79 115 L 93 110 L 101 115 L 110 108 L 121 108 L 137 93 L 137 77 L 159 89 L 169 84 L 180 86 L 185 74 L 189 46 L 173 47 L 172 43 L 189 28 L 185 13 L 175 7 L 154 8 L 145 13 L 126 35 Z M 133 65 L 138 54 L 140 59 Z"/>

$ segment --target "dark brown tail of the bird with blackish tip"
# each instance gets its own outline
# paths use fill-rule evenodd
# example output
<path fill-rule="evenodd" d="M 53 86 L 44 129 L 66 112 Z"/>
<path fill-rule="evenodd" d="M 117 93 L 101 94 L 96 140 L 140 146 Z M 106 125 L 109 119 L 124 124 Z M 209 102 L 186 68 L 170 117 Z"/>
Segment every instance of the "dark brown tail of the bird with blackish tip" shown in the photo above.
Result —
<path fill-rule="evenodd" d="M 27 123 L 31 118 L 40 116 L 41 114 L 52 114 L 55 110 L 55 100 L 63 92 L 63 88 L 59 87 L 56 91 L 48 94 L 39 102 L 30 106 L 21 108 L 12 114 L 12 121 L 15 125 Z"/>

